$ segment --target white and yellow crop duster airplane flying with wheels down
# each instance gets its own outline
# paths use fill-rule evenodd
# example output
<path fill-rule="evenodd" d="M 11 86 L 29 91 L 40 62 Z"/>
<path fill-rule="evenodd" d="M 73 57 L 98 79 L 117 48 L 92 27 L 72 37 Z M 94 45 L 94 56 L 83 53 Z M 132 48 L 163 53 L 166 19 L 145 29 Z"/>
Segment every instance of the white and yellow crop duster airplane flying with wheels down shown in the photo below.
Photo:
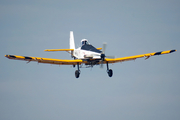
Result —
<path fill-rule="evenodd" d="M 105 55 L 106 43 L 103 43 L 102 48 L 95 48 L 90 43 L 88 43 L 87 39 L 81 40 L 82 46 L 75 49 L 74 43 L 74 35 L 73 31 L 70 31 L 70 48 L 69 49 L 46 49 L 44 51 L 66 51 L 71 54 L 73 60 L 64 60 L 64 59 L 52 59 L 52 58 L 42 58 L 42 57 L 28 57 L 28 56 L 18 56 L 18 55 L 5 55 L 5 57 L 14 60 L 24 60 L 24 61 L 35 61 L 38 63 L 47 63 L 47 64 L 56 64 L 56 65 L 73 65 L 73 67 L 77 66 L 77 70 L 75 71 L 75 77 L 79 78 L 80 68 L 83 67 L 93 67 L 95 65 L 100 65 L 102 67 L 103 64 L 107 66 L 107 73 L 109 77 L 112 77 L 113 71 L 109 69 L 109 64 L 124 62 L 135 60 L 137 58 L 145 57 L 148 59 L 151 56 L 168 54 L 175 52 L 176 50 L 167 50 L 161 52 L 147 53 L 141 55 L 134 55 L 128 57 L 120 57 L 115 58 L 112 56 Z"/>

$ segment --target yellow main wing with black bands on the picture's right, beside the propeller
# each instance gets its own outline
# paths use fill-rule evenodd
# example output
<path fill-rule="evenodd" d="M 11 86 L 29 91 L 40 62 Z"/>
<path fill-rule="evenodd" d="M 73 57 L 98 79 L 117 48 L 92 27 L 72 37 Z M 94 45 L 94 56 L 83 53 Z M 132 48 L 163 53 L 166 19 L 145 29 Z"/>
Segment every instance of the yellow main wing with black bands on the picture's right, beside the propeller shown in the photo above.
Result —
<path fill-rule="evenodd" d="M 145 59 L 148 59 L 151 56 L 168 54 L 168 53 L 172 53 L 175 51 L 177 51 L 177 50 L 167 50 L 167 51 L 147 53 L 147 54 L 134 55 L 134 56 L 128 56 L 128 57 L 114 58 L 114 59 L 106 58 L 105 61 L 107 61 L 108 63 L 116 63 L 116 62 L 135 60 L 137 58 L 142 58 L 142 57 L 145 57 Z"/>

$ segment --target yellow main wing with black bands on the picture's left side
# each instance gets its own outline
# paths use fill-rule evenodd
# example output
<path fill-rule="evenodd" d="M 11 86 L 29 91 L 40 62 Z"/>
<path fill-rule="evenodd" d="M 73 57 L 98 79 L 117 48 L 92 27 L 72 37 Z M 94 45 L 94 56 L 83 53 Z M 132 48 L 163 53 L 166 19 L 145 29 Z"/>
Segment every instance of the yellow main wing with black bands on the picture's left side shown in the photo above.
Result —
<path fill-rule="evenodd" d="M 62 60 L 62 59 L 52 59 L 52 58 L 41 58 L 41 57 L 28 57 L 28 56 L 18 56 L 18 55 L 5 55 L 5 57 L 14 60 L 24 60 L 27 62 L 35 61 L 38 63 L 47 64 L 57 64 L 57 65 L 77 65 L 77 63 L 85 63 L 82 60 Z"/>

